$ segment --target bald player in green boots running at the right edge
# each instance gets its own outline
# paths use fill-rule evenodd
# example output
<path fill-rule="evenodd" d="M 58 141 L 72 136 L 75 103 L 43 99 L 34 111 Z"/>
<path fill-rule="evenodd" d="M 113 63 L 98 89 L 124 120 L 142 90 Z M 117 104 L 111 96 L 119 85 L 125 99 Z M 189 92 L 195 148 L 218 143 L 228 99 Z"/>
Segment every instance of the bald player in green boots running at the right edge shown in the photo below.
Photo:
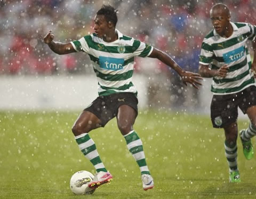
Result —
<path fill-rule="evenodd" d="M 241 181 L 236 145 L 238 107 L 250 119 L 249 127 L 239 133 L 247 160 L 253 157 L 251 138 L 256 135 L 256 26 L 231 22 L 229 9 L 224 4 L 215 4 L 210 10 L 210 17 L 214 29 L 203 40 L 199 74 L 213 78 L 211 120 L 214 128 L 225 131 L 229 181 L 236 183 Z M 252 41 L 253 63 L 247 40 Z"/>

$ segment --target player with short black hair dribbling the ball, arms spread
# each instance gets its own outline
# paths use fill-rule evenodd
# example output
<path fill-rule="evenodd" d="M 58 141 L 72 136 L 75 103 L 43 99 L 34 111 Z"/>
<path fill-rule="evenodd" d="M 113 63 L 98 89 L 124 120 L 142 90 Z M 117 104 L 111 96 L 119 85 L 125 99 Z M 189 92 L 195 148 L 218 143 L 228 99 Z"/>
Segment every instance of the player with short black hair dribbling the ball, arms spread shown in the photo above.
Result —
<path fill-rule="evenodd" d="M 108 183 L 112 179 L 101 162 L 97 148 L 89 136 L 93 129 L 104 127 L 112 118 L 117 118 L 117 126 L 126 140 L 127 148 L 137 161 L 143 189 L 154 187 L 153 178 L 147 167 L 142 142 L 133 124 L 138 115 L 137 89 L 132 83 L 134 57 L 156 58 L 174 69 L 183 83 L 198 88 L 202 79 L 199 74 L 182 70 L 166 53 L 139 40 L 123 35 L 116 29 L 117 14 L 114 7 L 103 5 L 94 18 L 94 33 L 70 43 L 54 42 L 52 32 L 44 37 L 44 42 L 57 54 L 84 52 L 90 56 L 98 79 L 96 98 L 79 115 L 72 131 L 85 157 L 91 161 L 97 174 L 89 184 L 91 188 Z"/>

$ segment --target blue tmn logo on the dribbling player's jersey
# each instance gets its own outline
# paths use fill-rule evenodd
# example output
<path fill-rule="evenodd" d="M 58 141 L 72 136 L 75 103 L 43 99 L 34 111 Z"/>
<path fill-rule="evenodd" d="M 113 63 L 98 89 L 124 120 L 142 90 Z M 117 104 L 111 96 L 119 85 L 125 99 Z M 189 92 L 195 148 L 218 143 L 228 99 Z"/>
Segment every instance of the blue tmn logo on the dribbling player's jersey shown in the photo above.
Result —
<path fill-rule="evenodd" d="M 122 70 L 124 68 L 124 59 L 99 56 L 100 68 L 106 70 Z"/>

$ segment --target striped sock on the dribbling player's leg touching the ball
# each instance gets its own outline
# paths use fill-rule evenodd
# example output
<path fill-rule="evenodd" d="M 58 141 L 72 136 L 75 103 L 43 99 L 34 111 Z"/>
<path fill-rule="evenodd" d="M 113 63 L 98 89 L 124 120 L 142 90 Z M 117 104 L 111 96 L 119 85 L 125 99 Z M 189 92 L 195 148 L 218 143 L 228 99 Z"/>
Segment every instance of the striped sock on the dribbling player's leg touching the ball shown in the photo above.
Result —
<path fill-rule="evenodd" d="M 94 144 L 93 140 L 90 138 L 89 134 L 81 134 L 79 136 L 75 136 L 75 139 L 80 150 L 82 151 L 84 156 L 91 161 L 96 171 L 107 172 L 107 169 L 105 168 L 104 164 L 101 162 L 96 145 Z"/>

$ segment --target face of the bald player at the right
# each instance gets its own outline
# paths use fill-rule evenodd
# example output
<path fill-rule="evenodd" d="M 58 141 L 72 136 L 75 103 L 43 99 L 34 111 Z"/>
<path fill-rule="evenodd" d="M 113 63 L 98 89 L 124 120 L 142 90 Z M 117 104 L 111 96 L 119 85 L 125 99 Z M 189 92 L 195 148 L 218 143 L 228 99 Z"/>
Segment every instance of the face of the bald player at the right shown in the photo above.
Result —
<path fill-rule="evenodd" d="M 230 16 L 222 9 L 213 9 L 210 11 L 210 17 L 216 32 L 219 35 L 223 35 L 228 27 Z"/>

